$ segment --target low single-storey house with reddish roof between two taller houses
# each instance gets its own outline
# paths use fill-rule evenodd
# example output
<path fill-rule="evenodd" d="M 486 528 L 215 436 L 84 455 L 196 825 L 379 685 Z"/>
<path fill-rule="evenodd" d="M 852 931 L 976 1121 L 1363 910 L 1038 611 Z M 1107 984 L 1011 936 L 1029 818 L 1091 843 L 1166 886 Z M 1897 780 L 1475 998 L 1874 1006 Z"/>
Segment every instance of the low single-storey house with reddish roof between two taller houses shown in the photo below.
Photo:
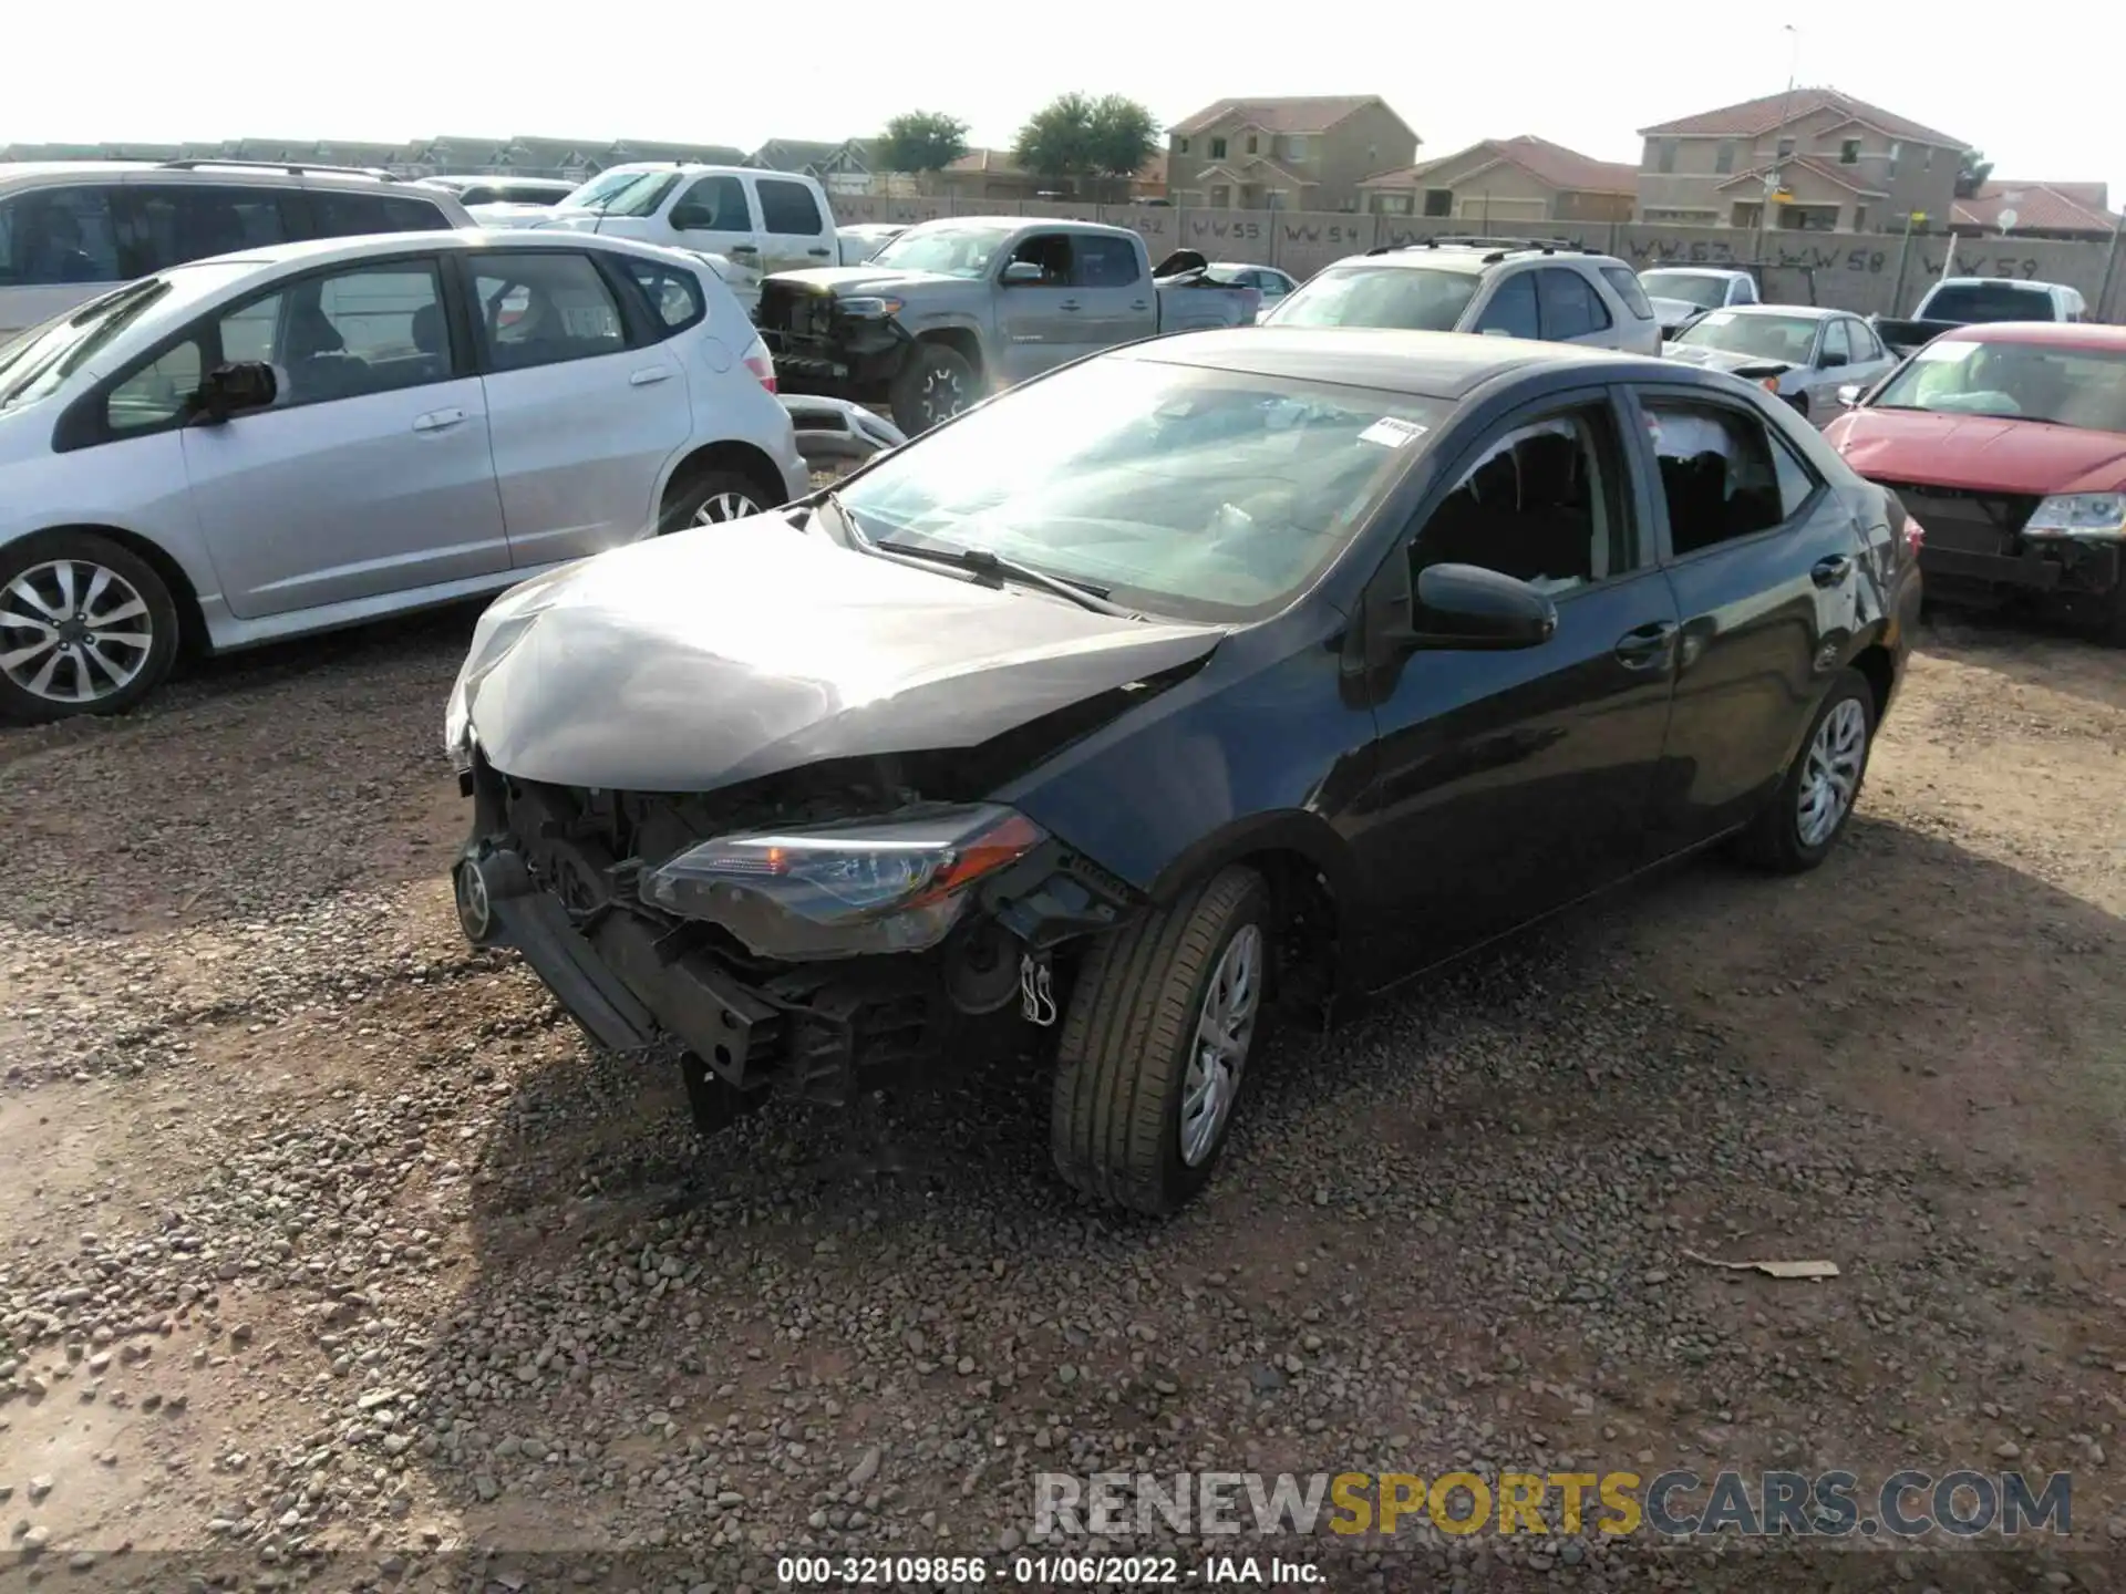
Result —
<path fill-rule="evenodd" d="M 1518 134 L 1369 176 L 1359 189 L 1373 215 L 1454 217 L 1488 232 L 1526 221 L 1631 221 L 1637 181 L 1637 166 Z"/>

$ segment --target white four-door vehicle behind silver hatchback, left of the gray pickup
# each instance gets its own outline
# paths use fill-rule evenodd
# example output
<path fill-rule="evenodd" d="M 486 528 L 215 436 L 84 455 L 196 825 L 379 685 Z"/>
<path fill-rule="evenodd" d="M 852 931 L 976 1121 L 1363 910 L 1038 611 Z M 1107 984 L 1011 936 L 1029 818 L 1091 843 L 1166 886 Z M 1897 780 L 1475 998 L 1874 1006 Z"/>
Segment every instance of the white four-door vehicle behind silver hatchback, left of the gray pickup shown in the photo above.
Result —
<path fill-rule="evenodd" d="M 608 238 L 710 255 L 716 272 L 750 310 L 761 278 L 840 264 L 827 191 L 799 172 L 748 166 L 631 162 L 608 166 L 561 204 L 472 206 L 474 221 L 508 227 L 574 227 Z"/>

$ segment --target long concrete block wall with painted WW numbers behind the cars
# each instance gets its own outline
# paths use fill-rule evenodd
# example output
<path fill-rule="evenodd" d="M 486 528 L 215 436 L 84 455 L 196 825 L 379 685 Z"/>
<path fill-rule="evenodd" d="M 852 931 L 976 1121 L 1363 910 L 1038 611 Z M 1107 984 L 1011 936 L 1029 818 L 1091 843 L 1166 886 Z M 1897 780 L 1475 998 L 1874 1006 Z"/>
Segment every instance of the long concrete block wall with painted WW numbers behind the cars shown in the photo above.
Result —
<path fill-rule="evenodd" d="M 1278 266 L 1305 278 L 1346 255 L 1376 244 L 1410 244 L 1439 234 L 1473 232 L 1469 221 L 1424 217 L 1367 217 L 1312 210 L 1188 210 L 1146 204 L 1035 204 L 1008 200 L 882 200 L 836 193 L 836 219 L 931 221 L 948 215 L 1027 215 L 1106 221 L 1144 234 L 1157 261 L 1176 249 L 1197 249 L 1210 259 Z M 1911 315 L 1926 285 L 1941 276 L 1947 238 L 1896 234 L 1771 232 L 1762 255 L 1756 234 L 1724 227 L 1648 227 L 1607 221 L 1543 221 L 1495 227 L 1501 234 L 1565 238 L 1616 255 L 1633 270 L 1652 266 L 1722 266 L 1762 259 L 1773 300 L 1809 302 L 1867 315 Z M 2041 238 L 1960 238 L 1956 270 L 1962 276 L 2024 276 L 2081 289 L 2100 321 L 2126 321 L 2126 261 L 2117 240 L 2056 242 Z"/>

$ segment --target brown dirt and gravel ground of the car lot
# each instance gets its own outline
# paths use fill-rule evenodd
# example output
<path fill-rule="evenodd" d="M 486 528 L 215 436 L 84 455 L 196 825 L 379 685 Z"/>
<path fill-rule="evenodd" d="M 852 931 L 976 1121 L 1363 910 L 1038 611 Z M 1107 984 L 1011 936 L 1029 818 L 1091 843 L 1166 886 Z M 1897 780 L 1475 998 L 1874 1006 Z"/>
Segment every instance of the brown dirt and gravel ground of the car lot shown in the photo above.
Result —
<path fill-rule="evenodd" d="M 614 1588 L 774 1588 L 802 1547 L 1001 1566 L 1035 1471 L 1186 1466 L 2071 1471 L 2037 1556 L 1845 1564 L 2126 1560 L 2126 655 L 1935 627 L 1820 874 L 1694 865 L 1284 1041 L 1210 1197 L 1152 1226 L 1059 1190 L 1023 1069 L 897 1109 L 933 1177 L 814 1188 L 821 1122 L 702 1143 L 676 1080 L 468 952 L 438 754 L 468 629 L 0 731 L 28 1573 L 497 1549 L 457 1585 L 585 1551 Z M 1733 1541 L 1282 1551 L 1337 1588 L 1826 1581 Z"/>

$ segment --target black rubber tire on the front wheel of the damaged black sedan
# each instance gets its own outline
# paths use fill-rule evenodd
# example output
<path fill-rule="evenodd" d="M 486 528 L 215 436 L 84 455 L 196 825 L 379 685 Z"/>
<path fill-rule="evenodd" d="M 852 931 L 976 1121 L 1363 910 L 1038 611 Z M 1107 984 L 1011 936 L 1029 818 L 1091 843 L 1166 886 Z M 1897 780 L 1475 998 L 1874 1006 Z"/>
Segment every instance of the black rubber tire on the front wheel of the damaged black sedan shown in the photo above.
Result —
<path fill-rule="evenodd" d="M 1208 1148 L 1182 1156 L 1182 1099 L 1203 1003 L 1231 948 L 1252 929 L 1256 986 L 1252 1024 L 1239 1048 L 1259 1050 L 1273 978 L 1269 891 L 1254 869 L 1225 869 L 1174 908 L 1103 935 L 1078 971 L 1057 1046 L 1048 1146 L 1057 1171 L 1078 1190 L 1131 1211 L 1165 1216 L 1210 1180 L 1233 1126 L 1233 1109 Z"/>

